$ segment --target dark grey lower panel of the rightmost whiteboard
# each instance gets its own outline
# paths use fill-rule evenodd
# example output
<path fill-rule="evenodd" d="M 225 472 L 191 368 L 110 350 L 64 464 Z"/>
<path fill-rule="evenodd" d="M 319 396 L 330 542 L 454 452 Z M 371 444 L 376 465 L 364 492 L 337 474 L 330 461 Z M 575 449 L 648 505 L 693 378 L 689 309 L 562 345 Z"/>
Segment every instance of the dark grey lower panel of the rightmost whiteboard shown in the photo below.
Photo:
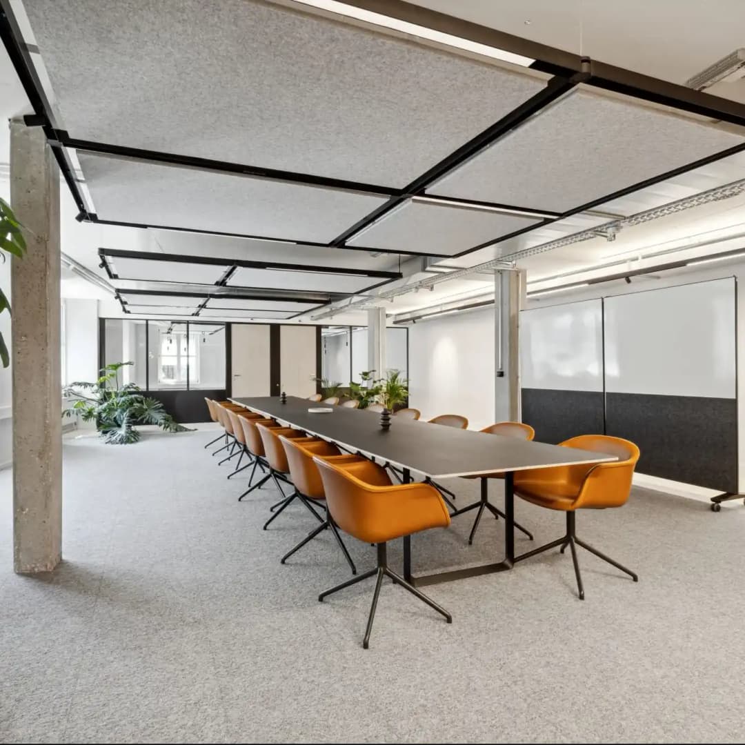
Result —
<path fill-rule="evenodd" d="M 638 445 L 639 473 L 738 491 L 736 399 L 608 393 L 606 422 Z"/>

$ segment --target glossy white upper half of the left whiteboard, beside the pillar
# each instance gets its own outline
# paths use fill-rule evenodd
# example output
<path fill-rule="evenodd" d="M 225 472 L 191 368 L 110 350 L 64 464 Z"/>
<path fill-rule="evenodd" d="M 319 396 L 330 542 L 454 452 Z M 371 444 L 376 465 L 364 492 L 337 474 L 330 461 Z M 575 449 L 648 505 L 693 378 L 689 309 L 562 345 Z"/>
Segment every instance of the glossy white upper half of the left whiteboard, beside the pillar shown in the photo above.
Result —
<path fill-rule="evenodd" d="M 603 301 L 584 300 L 520 314 L 523 388 L 603 390 Z"/>

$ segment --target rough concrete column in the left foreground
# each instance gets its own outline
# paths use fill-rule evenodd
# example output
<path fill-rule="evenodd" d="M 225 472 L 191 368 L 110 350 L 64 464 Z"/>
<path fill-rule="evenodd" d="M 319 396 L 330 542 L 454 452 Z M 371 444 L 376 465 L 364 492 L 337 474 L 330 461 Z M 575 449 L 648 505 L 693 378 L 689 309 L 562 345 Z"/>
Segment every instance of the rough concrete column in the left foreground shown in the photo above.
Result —
<path fill-rule="evenodd" d="M 10 204 L 28 253 L 13 259 L 13 568 L 62 558 L 60 174 L 39 127 L 10 123 Z"/>

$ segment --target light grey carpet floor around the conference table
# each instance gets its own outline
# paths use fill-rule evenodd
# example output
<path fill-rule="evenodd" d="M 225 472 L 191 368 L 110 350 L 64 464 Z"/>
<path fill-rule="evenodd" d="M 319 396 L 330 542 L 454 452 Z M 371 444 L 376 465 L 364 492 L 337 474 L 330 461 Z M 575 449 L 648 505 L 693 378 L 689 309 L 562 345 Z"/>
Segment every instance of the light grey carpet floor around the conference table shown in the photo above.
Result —
<path fill-rule="evenodd" d="M 209 431 L 135 446 L 66 439 L 64 562 L 11 571 L 10 472 L 0 472 L 0 741 L 721 742 L 745 738 L 745 507 L 635 489 L 578 533 L 633 583 L 580 553 L 426 589 L 446 624 L 386 583 L 349 577 L 302 506 L 261 530 L 273 487 L 238 504 L 203 449 Z M 245 475 L 245 474 L 244 474 Z M 473 482 L 454 481 L 458 504 Z M 501 502 L 499 485 L 492 486 Z M 536 542 L 562 516 L 519 502 Z M 472 517 L 414 539 L 415 567 L 502 555 L 502 522 Z M 348 539 L 360 571 L 374 549 Z M 519 551 L 530 547 L 518 538 Z M 400 541 L 390 549 L 400 567 Z"/>

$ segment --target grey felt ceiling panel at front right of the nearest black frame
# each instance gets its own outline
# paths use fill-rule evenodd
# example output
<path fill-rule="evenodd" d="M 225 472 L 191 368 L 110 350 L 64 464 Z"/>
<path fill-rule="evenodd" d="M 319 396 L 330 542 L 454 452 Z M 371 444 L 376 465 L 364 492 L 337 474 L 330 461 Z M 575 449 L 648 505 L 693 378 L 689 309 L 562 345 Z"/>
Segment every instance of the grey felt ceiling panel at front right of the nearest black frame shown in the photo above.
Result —
<path fill-rule="evenodd" d="M 745 131 L 577 89 L 428 192 L 567 212 L 743 142 Z"/>

